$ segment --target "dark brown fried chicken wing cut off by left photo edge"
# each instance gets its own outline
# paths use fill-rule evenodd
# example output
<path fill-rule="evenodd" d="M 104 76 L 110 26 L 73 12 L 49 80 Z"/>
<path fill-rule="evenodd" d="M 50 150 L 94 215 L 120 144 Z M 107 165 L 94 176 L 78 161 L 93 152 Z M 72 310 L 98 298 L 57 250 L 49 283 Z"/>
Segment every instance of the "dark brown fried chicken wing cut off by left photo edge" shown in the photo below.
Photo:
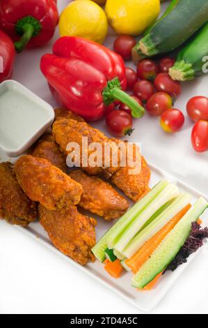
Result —
<path fill-rule="evenodd" d="M 38 217 L 35 202 L 22 191 L 9 162 L 0 164 L 0 217 L 23 227 Z"/>

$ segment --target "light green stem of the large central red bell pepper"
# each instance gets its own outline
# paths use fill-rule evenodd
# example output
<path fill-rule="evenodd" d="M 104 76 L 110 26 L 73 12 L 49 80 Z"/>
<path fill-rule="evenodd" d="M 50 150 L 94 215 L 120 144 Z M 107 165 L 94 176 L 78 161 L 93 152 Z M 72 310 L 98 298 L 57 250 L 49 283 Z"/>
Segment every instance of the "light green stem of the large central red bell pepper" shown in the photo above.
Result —
<path fill-rule="evenodd" d="M 103 91 L 105 105 L 110 105 L 115 100 L 120 100 L 125 103 L 131 109 L 132 117 L 140 118 L 145 114 L 145 109 L 137 103 L 134 98 L 131 98 L 129 94 L 121 90 L 120 81 L 118 77 L 108 82 L 106 89 Z"/>

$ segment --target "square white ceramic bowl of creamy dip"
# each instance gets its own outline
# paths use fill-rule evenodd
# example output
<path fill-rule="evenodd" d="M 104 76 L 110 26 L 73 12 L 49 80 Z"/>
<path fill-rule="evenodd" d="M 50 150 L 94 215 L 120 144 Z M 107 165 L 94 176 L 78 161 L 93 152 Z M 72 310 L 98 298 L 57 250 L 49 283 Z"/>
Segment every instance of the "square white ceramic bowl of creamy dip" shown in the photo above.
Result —
<path fill-rule="evenodd" d="M 9 156 L 24 153 L 54 121 L 54 110 L 19 82 L 0 84 L 0 148 Z"/>

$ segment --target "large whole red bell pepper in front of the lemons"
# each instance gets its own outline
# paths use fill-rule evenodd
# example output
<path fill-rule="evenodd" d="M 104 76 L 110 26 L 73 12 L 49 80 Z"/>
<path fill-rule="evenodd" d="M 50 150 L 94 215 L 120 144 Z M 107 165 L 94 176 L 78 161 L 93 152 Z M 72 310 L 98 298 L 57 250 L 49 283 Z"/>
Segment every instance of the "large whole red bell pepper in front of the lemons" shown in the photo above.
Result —
<path fill-rule="evenodd" d="M 56 41 L 54 53 L 42 57 L 40 68 L 61 105 L 95 121 L 104 116 L 106 106 L 120 100 L 131 108 L 132 116 L 143 116 L 144 108 L 122 91 L 126 79 L 120 56 L 76 37 Z"/>

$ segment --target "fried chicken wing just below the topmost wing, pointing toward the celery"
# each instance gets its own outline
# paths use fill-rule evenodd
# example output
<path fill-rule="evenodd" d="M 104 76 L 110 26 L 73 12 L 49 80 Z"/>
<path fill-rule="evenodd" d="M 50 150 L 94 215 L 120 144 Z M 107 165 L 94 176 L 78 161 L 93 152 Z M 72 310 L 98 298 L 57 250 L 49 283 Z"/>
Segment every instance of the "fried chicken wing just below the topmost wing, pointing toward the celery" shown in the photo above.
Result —
<path fill-rule="evenodd" d="M 83 209 L 103 216 L 106 220 L 119 218 L 127 211 L 129 203 L 108 182 L 81 170 L 70 172 L 70 177 L 83 188 L 79 202 Z"/>

